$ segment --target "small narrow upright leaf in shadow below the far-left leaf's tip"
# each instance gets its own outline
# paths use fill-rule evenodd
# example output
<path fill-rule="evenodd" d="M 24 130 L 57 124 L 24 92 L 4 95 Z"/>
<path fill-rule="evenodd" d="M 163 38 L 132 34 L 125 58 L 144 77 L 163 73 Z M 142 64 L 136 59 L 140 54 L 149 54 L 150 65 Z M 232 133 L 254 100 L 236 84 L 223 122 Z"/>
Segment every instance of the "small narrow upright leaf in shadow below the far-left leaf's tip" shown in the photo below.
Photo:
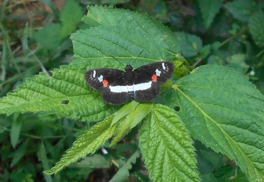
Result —
<path fill-rule="evenodd" d="M 22 120 L 18 119 L 18 117 L 19 117 L 19 114 L 15 113 L 14 118 L 13 118 L 13 122 L 12 122 L 12 126 L 11 126 L 11 132 L 10 132 L 11 144 L 12 144 L 12 147 L 14 149 L 17 146 L 19 134 L 20 134 L 20 130 L 21 130 L 21 125 L 22 125 Z"/>

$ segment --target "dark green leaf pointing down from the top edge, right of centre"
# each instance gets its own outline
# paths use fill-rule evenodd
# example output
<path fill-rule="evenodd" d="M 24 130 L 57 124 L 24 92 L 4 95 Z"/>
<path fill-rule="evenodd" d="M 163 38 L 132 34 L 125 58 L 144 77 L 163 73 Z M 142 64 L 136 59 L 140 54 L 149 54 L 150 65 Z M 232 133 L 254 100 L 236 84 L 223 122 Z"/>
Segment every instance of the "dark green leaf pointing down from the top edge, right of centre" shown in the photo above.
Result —
<path fill-rule="evenodd" d="M 203 24 L 207 29 L 222 7 L 223 0 L 199 0 L 198 3 L 202 13 Z"/>

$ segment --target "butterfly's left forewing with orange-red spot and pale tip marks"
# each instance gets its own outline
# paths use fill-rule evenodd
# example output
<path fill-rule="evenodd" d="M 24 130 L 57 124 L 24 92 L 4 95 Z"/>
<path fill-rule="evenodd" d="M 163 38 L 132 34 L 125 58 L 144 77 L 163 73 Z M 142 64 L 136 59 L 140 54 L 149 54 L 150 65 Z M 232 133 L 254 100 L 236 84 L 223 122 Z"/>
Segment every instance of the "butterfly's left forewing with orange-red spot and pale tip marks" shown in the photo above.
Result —
<path fill-rule="evenodd" d="M 124 76 L 124 74 L 124 71 L 118 69 L 91 69 L 85 73 L 85 79 L 90 87 L 102 91 L 105 87 Z"/>

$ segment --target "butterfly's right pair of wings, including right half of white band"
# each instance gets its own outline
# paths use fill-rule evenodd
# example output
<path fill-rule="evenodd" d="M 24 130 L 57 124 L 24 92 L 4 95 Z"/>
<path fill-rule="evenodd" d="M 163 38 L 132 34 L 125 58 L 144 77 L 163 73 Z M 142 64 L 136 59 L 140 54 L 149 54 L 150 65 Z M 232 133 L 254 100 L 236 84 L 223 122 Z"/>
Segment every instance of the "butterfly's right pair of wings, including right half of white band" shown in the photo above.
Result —
<path fill-rule="evenodd" d="M 157 62 L 141 66 L 134 71 L 134 99 L 148 102 L 161 93 L 160 84 L 173 75 L 174 65 L 171 62 Z"/>

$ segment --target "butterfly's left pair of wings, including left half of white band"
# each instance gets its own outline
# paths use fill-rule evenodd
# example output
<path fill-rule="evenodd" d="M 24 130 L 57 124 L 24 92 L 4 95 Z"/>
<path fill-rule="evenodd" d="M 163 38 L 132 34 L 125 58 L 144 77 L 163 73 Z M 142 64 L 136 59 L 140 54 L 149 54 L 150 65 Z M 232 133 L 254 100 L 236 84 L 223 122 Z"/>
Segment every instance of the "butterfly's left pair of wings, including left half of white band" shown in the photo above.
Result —
<path fill-rule="evenodd" d="M 102 92 L 102 98 L 111 105 L 130 101 L 125 72 L 118 69 L 92 69 L 85 73 L 88 85 Z"/>

